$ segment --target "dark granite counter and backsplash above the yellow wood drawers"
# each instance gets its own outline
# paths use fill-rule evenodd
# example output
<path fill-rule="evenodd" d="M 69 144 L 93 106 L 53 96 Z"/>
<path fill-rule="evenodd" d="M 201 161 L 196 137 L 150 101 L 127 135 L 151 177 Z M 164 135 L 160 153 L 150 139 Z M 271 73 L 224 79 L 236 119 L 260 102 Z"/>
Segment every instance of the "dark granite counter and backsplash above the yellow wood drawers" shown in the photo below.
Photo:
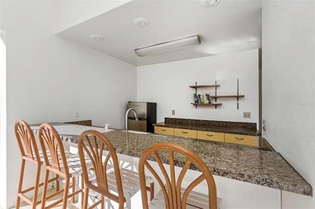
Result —
<path fill-rule="evenodd" d="M 234 133 L 252 136 L 260 135 L 260 132 L 256 129 L 256 123 L 165 118 L 164 122 L 154 124 L 154 126 L 197 131 Z"/>

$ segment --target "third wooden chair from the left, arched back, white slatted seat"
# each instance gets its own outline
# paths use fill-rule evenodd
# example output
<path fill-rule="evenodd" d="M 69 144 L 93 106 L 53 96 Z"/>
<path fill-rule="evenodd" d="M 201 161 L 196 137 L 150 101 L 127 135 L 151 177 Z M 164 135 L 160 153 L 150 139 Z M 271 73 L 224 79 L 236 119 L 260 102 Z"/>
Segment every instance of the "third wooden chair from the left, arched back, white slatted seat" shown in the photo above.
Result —
<path fill-rule="evenodd" d="M 78 141 L 78 151 L 85 183 L 83 208 L 88 208 L 88 197 L 92 190 L 91 193 L 96 192 L 98 197 L 89 209 L 95 208 L 99 204 L 103 208 L 104 197 L 118 203 L 119 209 L 123 209 L 125 203 L 126 207 L 130 209 L 131 197 L 140 190 L 139 174 L 120 167 L 117 154 L 110 141 L 98 131 L 84 131 Z M 106 156 L 105 151 L 108 151 Z M 91 170 L 94 170 L 95 175 L 93 178 L 88 175 L 88 168 L 84 162 L 86 157 L 92 161 Z M 145 178 L 147 183 L 150 183 L 150 187 L 146 186 L 146 189 L 154 194 L 152 178 Z M 146 182 L 146 180 L 144 181 Z"/>

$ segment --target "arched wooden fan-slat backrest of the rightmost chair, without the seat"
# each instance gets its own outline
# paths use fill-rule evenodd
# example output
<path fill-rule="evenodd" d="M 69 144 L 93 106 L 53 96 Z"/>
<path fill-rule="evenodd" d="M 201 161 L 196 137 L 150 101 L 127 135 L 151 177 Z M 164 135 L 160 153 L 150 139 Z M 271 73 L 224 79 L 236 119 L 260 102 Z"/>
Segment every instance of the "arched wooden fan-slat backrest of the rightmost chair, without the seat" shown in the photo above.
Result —
<path fill-rule="evenodd" d="M 184 160 L 185 163 L 176 179 L 175 162 L 177 160 L 182 161 L 183 157 L 186 158 Z M 169 158 L 169 175 L 160 160 L 166 158 Z M 154 160 L 158 163 L 158 172 L 153 169 L 148 160 Z M 181 194 L 183 179 L 187 174 L 187 170 L 192 165 L 200 170 L 201 175 L 195 178 L 185 188 L 185 192 Z M 177 144 L 163 142 L 150 146 L 142 153 L 139 161 L 139 178 L 143 209 L 148 209 L 148 197 L 145 188 L 145 168 L 147 168 L 158 181 L 163 192 L 166 209 L 186 209 L 189 193 L 204 180 L 208 186 L 209 209 L 217 209 L 217 189 L 214 178 L 207 165 L 189 149 Z M 160 179 L 158 173 L 162 173 L 161 177 L 164 178 L 163 180 Z"/>

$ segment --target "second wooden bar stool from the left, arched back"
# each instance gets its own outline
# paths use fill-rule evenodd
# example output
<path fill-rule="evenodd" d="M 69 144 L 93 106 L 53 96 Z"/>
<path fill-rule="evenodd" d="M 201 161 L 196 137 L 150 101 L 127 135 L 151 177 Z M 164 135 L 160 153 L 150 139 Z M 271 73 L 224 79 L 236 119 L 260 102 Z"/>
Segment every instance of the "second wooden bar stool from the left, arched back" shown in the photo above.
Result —
<path fill-rule="evenodd" d="M 63 142 L 60 138 L 60 135 L 50 124 L 44 123 L 39 126 L 38 129 L 38 138 L 42 150 L 45 150 L 46 147 L 49 149 L 51 155 L 51 161 L 47 153 L 43 152 L 43 157 L 46 164 L 45 177 L 44 177 L 44 186 L 42 193 L 42 205 L 41 209 L 53 208 L 60 203 L 63 203 L 62 208 L 66 209 L 67 201 L 69 198 L 72 198 L 72 203 L 75 202 L 75 195 L 81 193 L 83 197 L 83 189 L 75 189 L 75 177 L 82 174 L 82 168 L 80 164 L 80 157 L 78 155 L 69 155 L 66 157 L 65 151 L 63 148 Z M 54 173 L 57 178 L 63 180 L 64 189 L 59 189 L 59 184 L 57 184 L 57 192 L 47 196 L 48 188 L 48 178 L 50 172 Z M 82 178 L 83 181 L 83 178 Z M 81 183 L 83 186 L 83 182 Z M 71 189 L 71 193 L 69 190 Z M 63 193 L 62 199 L 57 199 L 53 201 L 52 204 L 46 206 L 46 200 L 56 197 L 57 195 Z"/>

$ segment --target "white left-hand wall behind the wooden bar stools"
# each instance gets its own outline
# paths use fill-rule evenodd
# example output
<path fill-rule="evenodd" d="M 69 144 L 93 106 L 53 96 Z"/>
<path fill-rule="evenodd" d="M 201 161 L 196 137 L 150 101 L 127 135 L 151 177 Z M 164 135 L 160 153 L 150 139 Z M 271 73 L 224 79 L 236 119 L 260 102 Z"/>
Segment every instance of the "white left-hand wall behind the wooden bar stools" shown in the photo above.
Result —
<path fill-rule="evenodd" d="M 1 0 L 0 14 L 7 50 L 7 146 L 0 158 L 8 164 L 0 172 L 9 185 L 0 206 L 8 208 L 15 205 L 21 163 L 14 122 L 92 119 L 123 129 L 127 101 L 136 99 L 136 67 L 55 36 L 52 1 Z"/>

